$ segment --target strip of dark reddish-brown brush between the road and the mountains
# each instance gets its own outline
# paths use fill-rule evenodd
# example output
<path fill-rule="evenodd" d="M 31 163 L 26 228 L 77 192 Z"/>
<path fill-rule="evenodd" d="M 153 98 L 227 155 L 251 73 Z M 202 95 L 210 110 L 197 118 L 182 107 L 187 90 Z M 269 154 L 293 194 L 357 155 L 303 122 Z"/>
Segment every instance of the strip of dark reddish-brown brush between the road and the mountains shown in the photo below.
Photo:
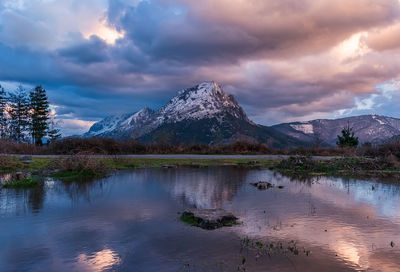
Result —
<path fill-rule="evenodd" d="M 66 138 L 50 145 L 38 147 L 32 144 L 0 140 L 0 153 L 6 154 L 284 154 L 312 156 L 366 156 L 400 159 L 400 141 L 392 141 L 377 146 L 358 148 L 297 148 L 271 149 L 262 143 L 236 142 L 229 145 L 207 146 L 140 144 L 137 141 L 116 141 L 104 138 Z"/>

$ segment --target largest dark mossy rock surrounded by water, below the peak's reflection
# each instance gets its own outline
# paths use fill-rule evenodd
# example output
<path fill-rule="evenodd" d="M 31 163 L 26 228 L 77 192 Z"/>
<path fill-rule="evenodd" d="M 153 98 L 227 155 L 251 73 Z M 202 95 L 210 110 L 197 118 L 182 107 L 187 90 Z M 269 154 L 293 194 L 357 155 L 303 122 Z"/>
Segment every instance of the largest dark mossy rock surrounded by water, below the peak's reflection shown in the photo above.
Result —
<path fill-rule="evenodd" d="M 213 230 L 237 224 L 238 218 L 222 209 L 184 211 L 180 219 L 191 226 Z"/>

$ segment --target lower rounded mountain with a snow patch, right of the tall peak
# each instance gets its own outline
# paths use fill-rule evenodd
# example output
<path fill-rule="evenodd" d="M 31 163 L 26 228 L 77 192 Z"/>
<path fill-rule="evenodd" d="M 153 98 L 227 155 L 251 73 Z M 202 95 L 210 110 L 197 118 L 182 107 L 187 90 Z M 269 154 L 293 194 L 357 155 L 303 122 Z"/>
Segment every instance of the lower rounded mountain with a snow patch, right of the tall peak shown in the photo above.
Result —
<path fill-rule="evenodd" d="M 342 129 L 348 124 L 360 143 L 380 143 L 400 135 L 400 119 L 380 115 L 283 123 L 272 128 L 303 142 L 322 141 L 325 145 L 332 146 L 336 144 L 337 135 L 341 135 Z"/>

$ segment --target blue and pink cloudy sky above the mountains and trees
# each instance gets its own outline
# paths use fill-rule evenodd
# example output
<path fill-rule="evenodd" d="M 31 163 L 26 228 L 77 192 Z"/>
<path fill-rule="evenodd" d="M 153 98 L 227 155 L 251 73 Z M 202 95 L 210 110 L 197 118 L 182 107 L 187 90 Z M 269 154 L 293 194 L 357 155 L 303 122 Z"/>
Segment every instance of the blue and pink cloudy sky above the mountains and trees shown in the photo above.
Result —
<path fill-rule="evenodd" d="M 400 117 L 399 0 L 0 0 L 0 83 L 65 135 L 215 80 L 271 125 Z"/>

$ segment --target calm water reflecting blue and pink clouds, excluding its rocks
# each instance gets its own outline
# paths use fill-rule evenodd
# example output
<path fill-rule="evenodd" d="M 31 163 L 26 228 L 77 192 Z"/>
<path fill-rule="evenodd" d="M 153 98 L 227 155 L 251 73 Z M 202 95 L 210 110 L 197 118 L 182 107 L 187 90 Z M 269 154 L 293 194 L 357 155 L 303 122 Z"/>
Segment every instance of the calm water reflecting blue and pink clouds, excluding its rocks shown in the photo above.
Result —
<path fill-rule="evenodd" d="M 283 189 L 259 191 L 265 180 Z M 242 224 L 185 225 L 222 208 Z M 256 256 L 244 237 L 298 255 Z M 302 250 L 311 251 L 307 256 Z M 245 256 L 245 265 L 241 265 Z M 400 183 L 301 181 L 231 167 L 140 169 L 87 183 L 0 190 L 0 271 L 400 271 Z"/>

